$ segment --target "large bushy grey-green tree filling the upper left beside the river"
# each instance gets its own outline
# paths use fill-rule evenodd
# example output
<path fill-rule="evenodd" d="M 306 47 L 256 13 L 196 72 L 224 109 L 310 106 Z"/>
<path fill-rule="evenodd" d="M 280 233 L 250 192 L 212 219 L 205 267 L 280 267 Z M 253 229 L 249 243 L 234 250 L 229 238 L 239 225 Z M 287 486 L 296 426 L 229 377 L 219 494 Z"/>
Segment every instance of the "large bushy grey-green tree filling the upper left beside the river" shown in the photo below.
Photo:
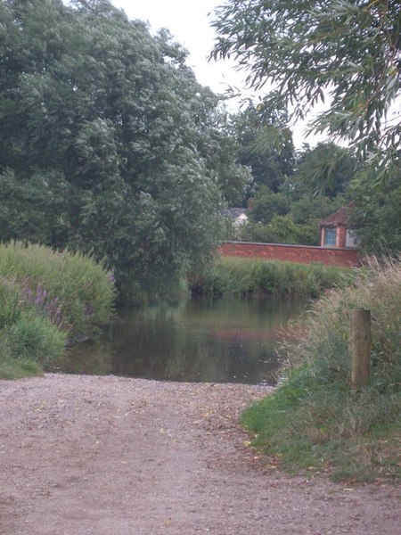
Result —
<path fill-rule="evenodd" d="M 199 268 L 220 161 L 241 168 L 185 56 L 107 0 L 3 0 L 0 238 L 92 251 L 149 292 Z"/>

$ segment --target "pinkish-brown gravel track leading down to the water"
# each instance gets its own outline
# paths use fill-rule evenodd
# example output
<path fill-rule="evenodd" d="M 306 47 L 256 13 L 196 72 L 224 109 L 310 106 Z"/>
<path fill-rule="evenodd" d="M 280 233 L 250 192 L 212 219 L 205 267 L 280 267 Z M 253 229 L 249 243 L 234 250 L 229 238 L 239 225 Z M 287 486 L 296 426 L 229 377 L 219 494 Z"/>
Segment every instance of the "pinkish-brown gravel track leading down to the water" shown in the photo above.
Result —
<path fill-rule="evenodd" d="M 395 535 L 399 489 L 262 470 L 238 414 L 268 387 L 0 381 L 5 535 Z"/>

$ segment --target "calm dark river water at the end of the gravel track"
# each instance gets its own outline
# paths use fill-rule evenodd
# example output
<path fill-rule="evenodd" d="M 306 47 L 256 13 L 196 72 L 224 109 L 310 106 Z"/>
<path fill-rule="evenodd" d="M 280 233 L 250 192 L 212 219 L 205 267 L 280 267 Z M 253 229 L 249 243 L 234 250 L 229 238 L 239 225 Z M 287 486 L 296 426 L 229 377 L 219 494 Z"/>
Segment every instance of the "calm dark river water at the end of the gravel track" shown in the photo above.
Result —
<path fill-rule="evenodd" d="M 63 371 L 160 381 L 276 382 L 277 344 L 299 300 L 192 299 L 122 309 L 96 343 L 70 350 Z"/>

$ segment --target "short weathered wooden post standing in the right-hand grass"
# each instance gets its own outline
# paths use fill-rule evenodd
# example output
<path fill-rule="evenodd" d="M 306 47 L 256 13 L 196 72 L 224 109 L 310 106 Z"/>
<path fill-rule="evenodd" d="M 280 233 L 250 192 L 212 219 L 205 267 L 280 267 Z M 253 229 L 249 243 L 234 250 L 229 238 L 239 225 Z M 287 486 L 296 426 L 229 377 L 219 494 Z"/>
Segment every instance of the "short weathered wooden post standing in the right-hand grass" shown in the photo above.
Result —
<path fill-rule="evenodd" d="M 353 309 L 351 315 L 352 387 L 371 383 L 371 311 Z"/>

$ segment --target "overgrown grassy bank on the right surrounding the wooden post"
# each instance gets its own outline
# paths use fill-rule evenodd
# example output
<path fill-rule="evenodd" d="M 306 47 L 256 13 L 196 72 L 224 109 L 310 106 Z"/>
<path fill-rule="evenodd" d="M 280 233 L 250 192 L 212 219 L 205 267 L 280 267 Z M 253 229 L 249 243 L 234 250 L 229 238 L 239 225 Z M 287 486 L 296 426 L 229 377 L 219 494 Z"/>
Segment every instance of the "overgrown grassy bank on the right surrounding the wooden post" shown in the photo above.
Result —
<path fill-rule="evenodd" d="M 362 391 L 350 384 L 349 311 L 355 307 L 372 311 L 372 377 Z M 299 339 L 282 346 L 285 381 L 242 415 L 253 445 L 292 473 L 399 478 L 400 314 L 399 260 L 372 263 L 355 284 L 319 300 Z"/>

